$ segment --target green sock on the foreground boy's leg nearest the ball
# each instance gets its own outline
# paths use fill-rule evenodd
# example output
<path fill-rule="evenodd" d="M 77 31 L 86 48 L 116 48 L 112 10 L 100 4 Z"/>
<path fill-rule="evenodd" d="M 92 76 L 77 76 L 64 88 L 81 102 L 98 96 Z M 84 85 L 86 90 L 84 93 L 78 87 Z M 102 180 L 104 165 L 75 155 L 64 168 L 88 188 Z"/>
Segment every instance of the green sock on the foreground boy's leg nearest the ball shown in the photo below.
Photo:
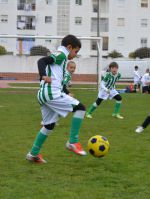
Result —
<path fill-rule="evenodd" d="M 70 130 L 70 143 L 77 143 L 78 137 L 79 137 L 79 130 L 82 124 L 82 118 L 73 117 L 72 118 L 72 124 L 71 124 L 71 130 Z"/>

